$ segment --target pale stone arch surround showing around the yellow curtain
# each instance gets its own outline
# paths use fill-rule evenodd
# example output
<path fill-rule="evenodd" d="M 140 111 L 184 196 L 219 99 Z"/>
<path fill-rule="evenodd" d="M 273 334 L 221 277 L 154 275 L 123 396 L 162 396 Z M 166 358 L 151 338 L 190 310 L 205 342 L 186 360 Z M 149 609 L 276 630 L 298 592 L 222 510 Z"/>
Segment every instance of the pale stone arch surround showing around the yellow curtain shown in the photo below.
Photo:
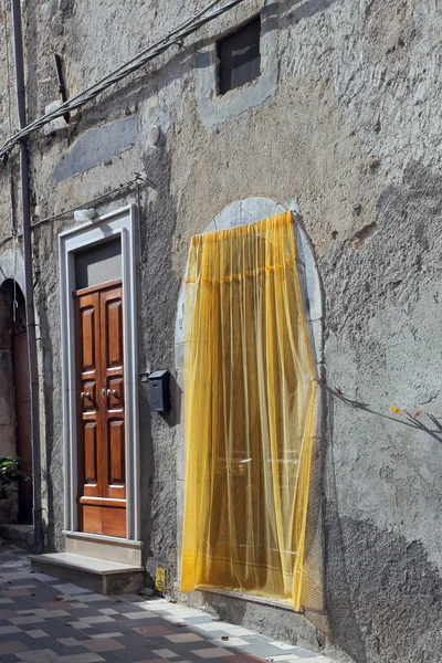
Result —
<path fill-rule="evenodd" d="M 297 263 L 304 298 L 304 311 L 306 316 L 307 329 L 311 338 L 311 347 L 314 355 L 316 366 L 316 375 L 322 382 L 324 378 L 324 306 L 323 291 L 319 274 L 316 267 L 312 243 L 304 229 L 299 207 L 294 198 L 281 203 L 271 198 L 251 197 L 242 200 L 236 200 L 225 207 L 217 217 L 212 219 L 206 228 L 206 232 L 229 230 L 248 223 L 254 223 L 267 219 L 269 217 L 283 213 L 291 210 L 295 219 L 295 232 L 297 244 Z M 183 389 L 183 306 L 185 306 L 185 283 L 182 282 L 178 313 L 176 319 L 176 375 L 178 387 Z M 315 414 L 315 435 L 313 459 L 316 463 L 316 469 L 312 473 L 312 490 L 309 497 L 309 517 L 307 524 L 306 536 L 306 559 L 309 565 L 311 573 L 318 578 L 319 592 L 315 597 L 315 610 L 312 613 L 305 612 L 307 619 L 319 630 L 327 631 L 328 623 L 325 612 L 324 599 L 324 548 L 323 548 L 323 503 L 322 503 L 322 440 L 324 434 L 325 408 L 324 408 L 324 390 L 317 390 L 317 403 Z M 177 408 L 180 411 L 177 413 L 178 425 L 178 475 L 177 475 L 177 513 L 178 513 L 178 569 L 180 568 L 181 552 L 181 536 L 182 536 L 182 509 L 185 496 L 185 425 L 183 425 L 183 407 L 186 394 L 177 399 Z M 319 596 L 322 594 L 322 596 Z"/>

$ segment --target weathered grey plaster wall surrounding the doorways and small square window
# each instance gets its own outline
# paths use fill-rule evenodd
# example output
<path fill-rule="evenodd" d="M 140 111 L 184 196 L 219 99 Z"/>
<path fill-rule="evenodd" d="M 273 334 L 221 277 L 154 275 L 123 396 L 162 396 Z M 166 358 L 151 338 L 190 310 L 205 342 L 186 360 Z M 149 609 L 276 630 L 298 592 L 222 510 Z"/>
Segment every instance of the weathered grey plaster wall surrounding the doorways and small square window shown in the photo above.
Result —
<path fill-rule="evenodd" d="M 188 2 L 181 12 L 175 3 L 157 4 L 31 0 L 31 117 L 57 97 L 54 51 L 64 54 L 72 94 L 133 54 L 146 35 L 150 41 L 165 33 L 170 15 L 178 22 L 202 2 Z M 172 366 L 190 235 L 232 200 L 295 196 L 324 282 L 329 383 L 383 414 L 390 404 L 413 408 L 425 401 L 440 413 L 438 2 L 267 2 L 269 25 L 278 31 L 277 92 L 208 131 L 198 114 L 199 48 L 192 43 L 210 40 L 255 9 L 255 2 L 245 2 L 187 40 L 161 57 L 162 69 L 150 65 L 120 84 L 119 93 L 78 113 L 65 134 L 35 137 L 35 212 L 40 218 L 60 212 L 119 186 L 134 171 L 147 171 L 156 190 L 143 191 L 141 199 L 140 369 L 155 369 Z M 38 24 L 43 11 L 48 18 Z M 123 24 L 130 31 L 122 38 Z M 138 118 L 133 149 L 57 187 L 51 182 L 54 165 L 80 135 L 128 115 Z M 162 130 L 157 148 L 147 139 L 155 123 Z M 6 191 L 7 179 L 0 177 Z M 6 236 L 6 196 L 0 204 Z M 57 548 L 63 480 L 56 236 L 71 223 L 56 221 L 35 235 L 49 543 Z M 175 393 L 179 397 L 179 389 Z M 165 419 L 150 417 L 140 389 L 148 568 L 166 566 L 170 583 L 177 539 L 173 417 L 173 411 Z M 358 663 L 439 663 L 441 448 L 399 422 L 336 401 L 325 452 L 327 592 L 336 642 Z M 270 611 L 267 628 L 274 630 Z"/>

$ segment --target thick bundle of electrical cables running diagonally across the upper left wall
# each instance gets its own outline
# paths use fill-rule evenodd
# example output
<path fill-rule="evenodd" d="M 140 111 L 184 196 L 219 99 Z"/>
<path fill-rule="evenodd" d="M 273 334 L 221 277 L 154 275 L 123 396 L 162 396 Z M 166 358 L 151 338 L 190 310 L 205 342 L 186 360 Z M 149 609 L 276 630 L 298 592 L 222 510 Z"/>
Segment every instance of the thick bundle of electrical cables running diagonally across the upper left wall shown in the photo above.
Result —
<path fill-rule="evenodd" d="M 219 2 L 220 0 L 212 0 L 212 2 L 210 2 L 204 9 L 193 14 L 193 17 L 181 23 L 178 28 L 169 32 L 167 35 L 162 36 L 152 45 L 137 53 L 131 60 L 120 65 L 116 70 L 113 70 L 109 74 L 107 74 L 90 87 L 83 90 L 75 96 L 71 97 L 54 110 L 42 115 L 40 118 L 30 123 L 21 130 L 15 131 L 13 136 L 10 136 L 1 146 L 0 160 L 6 161 L 8 155 L 14 148 L 14 146 L 31 134 L 41 129 L 53 119 L 56 119 L 57 117 L 61 117 L 66 113 L 71 113 L 72 110 L 84 106 L 85 104 L 97 97 L 102 92 L 104 92 L 112 85 L 115 85 L 123 78 L 126 78 L 129 74 L 136 72 L 151 60 L 155 60 L 164 52 L 168 51 L 171 46 L 181 45 L 183 39 L 192 34 L 193 32 L 197 32 L 197 30 L 199 30 L 207 23 L 213 21 L 218 17 L 222 15 L 227 11 L 233 9 L 238 4 L 241 4 L 242 2 L 244 2 L 244 0 L 229 0 L 218 9 L 213 9 L 213 7 L 219 4 Z"/>

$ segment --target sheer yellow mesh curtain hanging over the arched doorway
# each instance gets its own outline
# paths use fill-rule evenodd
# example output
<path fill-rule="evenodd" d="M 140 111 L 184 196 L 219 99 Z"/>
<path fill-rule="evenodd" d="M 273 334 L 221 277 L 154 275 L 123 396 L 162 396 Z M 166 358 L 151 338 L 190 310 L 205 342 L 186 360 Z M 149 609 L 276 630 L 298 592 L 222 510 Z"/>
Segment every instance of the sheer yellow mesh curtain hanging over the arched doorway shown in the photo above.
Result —
<path fill-rule="evenodd" d="M 181 590 L 299 609 L 316 383 L 292 213 L 192 238 Z"/>

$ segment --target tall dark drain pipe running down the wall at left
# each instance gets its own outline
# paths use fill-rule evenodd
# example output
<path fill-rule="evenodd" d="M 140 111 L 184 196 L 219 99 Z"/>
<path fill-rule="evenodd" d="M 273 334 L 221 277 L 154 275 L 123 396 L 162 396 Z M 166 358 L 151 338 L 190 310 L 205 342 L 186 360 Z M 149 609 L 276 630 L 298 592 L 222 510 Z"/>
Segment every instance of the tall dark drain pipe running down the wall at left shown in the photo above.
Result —
<path fill-rule="evenodd" d="M 27 102 L 24 92 L 23 35 L 21 29 L 20 0 L 11 0 L 13 46 L 15 60 L 15 93 L 19 112 L 19 127 L 27 126 Z M 31 207 L 29 186 L 28 140 L 20 141 L 21 211 L 24 250 L 24 297 L 27 301 L 27 332 L 31 397 L 31 441 L 32 441 L 32 492 L 34 552 L 43 551 L 42 507 L 41 507 L 41 456 L 40 456 L 40 408 L 39 366 L 36 359 L 35 312 L 32 273 Z"/>

